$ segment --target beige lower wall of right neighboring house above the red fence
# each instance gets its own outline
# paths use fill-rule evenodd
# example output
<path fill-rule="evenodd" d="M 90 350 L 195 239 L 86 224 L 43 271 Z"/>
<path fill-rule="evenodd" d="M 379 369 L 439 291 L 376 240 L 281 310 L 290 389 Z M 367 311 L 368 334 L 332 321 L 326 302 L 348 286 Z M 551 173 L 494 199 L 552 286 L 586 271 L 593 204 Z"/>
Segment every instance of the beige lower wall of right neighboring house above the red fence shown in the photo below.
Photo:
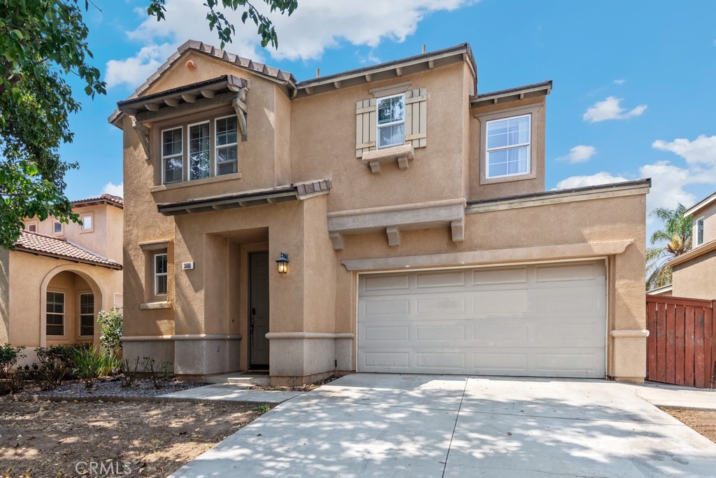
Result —
<path fill-rule="evenodd" d="M 706 227 L 704 227 L 704 235 Z M 716 251 L 701 254 L 673 267 L 672 294 L 674 297 L 716 299 Z"/>

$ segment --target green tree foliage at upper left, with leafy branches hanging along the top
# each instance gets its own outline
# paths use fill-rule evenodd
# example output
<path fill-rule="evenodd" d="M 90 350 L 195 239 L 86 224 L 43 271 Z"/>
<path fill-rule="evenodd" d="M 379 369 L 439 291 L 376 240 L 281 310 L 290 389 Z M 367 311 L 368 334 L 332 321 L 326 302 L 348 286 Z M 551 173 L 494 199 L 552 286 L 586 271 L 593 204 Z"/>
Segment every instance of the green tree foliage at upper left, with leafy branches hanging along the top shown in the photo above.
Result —
<path fill-rule="evenodd" d="M 165 0 L 147 0 L 147 14 L 165 17 Z M 297 0 L 263 0 L 281 14 Z M 92 4 L 94 5 L 94 4 Z M 211 30 L 221 47 L 236 30 L 223 9 L 253 20 L 261 44 L 278 47 L 271 20 L 246 0 L 205 0 Z M 223 6 L 223 9 L 221 7 Z M 79 77 L 89 97 L 105 94 L 93 67 L 82 14 L 89 0 L 0 0 L 0 246 L 11 248 L 25 217 L 79 221 L 64 196 L 64 173 L 77 163 L 62 161 L 59 146 L 72 142 L 69 117 L 81 105 L 65 78 Z"/>

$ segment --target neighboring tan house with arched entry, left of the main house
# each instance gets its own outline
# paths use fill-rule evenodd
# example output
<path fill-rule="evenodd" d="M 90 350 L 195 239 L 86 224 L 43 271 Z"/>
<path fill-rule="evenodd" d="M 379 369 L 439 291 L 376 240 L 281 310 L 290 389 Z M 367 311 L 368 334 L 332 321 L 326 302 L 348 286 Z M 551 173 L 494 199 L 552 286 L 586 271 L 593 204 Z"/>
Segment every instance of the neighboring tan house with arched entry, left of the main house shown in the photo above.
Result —
<path fill-rule="evenodd" d="M 83 224 L 26 219 L 0 248 L 0 343 L 99 343 L 97 312 L 122 306 L 122 198 L 72 203 Z"/>

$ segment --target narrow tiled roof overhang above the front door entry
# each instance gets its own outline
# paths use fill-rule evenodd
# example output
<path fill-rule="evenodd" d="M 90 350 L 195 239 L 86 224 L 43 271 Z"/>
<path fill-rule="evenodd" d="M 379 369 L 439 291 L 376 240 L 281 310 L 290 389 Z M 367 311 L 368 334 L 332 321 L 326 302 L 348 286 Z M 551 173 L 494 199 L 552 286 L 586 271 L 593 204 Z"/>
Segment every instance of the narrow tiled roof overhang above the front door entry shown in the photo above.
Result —
<path fill-rule="evenodd" d="M 331 186 L 331 180 L 324 179 L 322 181 L 278 186 L 246 193 L 223 194 L 221 196 L 191 199 L 176 203 L 157 204 L 157 210 L 164 216 L 180 216 L 198 212 L 223 211 L 225 209 L 298 201 L 326 194 L 331 189 Z"/>

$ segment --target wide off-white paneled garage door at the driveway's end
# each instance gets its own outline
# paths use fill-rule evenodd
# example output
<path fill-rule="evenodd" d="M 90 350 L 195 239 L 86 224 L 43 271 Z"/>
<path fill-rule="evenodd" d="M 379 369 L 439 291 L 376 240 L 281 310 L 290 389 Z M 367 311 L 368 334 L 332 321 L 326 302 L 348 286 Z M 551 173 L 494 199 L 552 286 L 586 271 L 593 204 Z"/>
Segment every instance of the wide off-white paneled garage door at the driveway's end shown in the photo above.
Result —
<path fill-rule="evenodd" d="M 359 278 L 359 372 L 604 378 L 604 261 Z"/>

